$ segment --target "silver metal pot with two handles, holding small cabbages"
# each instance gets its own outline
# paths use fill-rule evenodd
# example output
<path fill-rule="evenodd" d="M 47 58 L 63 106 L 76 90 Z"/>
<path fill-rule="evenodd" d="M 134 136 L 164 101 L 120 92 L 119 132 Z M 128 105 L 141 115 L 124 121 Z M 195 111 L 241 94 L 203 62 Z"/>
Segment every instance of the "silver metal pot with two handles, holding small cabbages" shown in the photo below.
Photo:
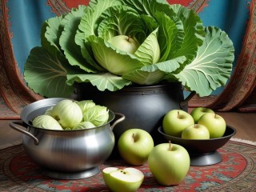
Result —
<path fill-rule="evenodd" d="M 32 119 L 62 99 L 46 98 L 25 106 L 22 121 L 10 122 L 10 127 L 22 132 L 24 149 L 34 162 L 42 166 L 43 174 L 64 179 L 98 174 L 98 166 L 106 161 L 114 148 L 112 130 L 125 117 L 110 110 L 105 125 L 86 130 L 46 130 L 31 125 Z M 115 116 L 119 118 L 114 121 Z M 113 122 L 112 126 L 110 122 Z"/>

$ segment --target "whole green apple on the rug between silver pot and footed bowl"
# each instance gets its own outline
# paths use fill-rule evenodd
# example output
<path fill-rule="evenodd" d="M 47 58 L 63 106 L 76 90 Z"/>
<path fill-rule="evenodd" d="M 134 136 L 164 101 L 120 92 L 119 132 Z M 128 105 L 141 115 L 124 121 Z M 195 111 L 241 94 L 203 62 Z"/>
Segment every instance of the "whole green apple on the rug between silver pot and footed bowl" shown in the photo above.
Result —
<path fill-rule="evenodd" d="M 142 166 L 153 148 L 154 140 L 146 130 L 129 129 L 118 139 L 119 154 L 133 166 Z"/>

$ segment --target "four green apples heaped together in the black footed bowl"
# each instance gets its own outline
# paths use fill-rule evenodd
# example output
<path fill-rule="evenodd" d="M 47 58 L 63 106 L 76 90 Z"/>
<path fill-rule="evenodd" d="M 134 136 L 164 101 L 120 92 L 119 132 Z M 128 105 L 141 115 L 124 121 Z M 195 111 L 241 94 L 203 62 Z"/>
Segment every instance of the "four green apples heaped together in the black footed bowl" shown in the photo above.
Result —
<path fill-rule="evenodd" d="M 226 122 L 214 110 L 197 107 L 187 113 L 183 110 L 170 110 L 163 118 L 165 134 L 186 139 L 221 138 L 226 131 Z"/>

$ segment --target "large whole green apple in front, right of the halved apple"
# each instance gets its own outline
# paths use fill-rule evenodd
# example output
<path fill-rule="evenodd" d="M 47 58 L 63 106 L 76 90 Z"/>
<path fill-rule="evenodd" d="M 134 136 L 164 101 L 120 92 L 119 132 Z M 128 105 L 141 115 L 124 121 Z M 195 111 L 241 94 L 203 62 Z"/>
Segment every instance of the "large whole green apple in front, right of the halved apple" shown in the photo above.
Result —
<path fill-rule="evenodd" d="M 162 143 L 151 151 L 148 163 L 160 185 L 175 186 L 186 178 L 190 169 L 190 155 L 183 146 Z"/>

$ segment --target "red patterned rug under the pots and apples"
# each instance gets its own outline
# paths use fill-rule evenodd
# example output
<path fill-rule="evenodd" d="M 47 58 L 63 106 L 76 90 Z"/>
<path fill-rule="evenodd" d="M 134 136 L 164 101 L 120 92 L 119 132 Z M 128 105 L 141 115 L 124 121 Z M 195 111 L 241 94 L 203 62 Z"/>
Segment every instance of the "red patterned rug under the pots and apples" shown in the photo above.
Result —
<path fill-rule="evenodd" d="M 256 146 L 230 141 L 218 152 L 222 162 L 212 166 L 190 166 L 178 186 L 159 186 L 148 165 L 136 166 L 145 174 L 138 191 L 256 191 Z M 22 145 L 0 150 L 0 191 L 109 191 L 102 173 L 90 178 L 60 180 L 46 177 L 26 155 Z M 121 160 L 100 166 L 127 166 Z"/>

